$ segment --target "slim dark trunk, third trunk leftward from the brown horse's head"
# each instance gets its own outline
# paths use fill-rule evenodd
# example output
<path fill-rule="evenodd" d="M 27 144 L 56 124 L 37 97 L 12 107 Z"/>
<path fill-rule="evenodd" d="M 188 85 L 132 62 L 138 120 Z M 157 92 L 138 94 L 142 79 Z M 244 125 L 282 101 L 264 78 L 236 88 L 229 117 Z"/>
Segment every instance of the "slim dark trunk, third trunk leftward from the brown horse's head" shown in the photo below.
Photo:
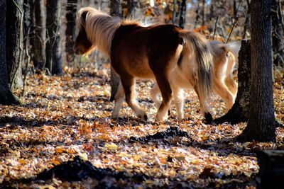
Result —
<path fill-rule="evenodd" d="M 33 64 L 35 68 L 43 70 L 45 67 L 45 1 L 35 0 L 35 31 L 33 38 Z"/>

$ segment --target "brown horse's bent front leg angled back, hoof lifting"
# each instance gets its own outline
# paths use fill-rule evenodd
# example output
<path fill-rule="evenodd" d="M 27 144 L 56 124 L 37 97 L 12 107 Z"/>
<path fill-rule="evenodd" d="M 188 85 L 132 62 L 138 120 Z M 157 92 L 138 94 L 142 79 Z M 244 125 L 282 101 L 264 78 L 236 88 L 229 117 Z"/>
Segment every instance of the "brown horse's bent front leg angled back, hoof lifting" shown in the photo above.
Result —
<path fill-rule="evenodd" d="M 138 105 L 138 102 L 136 101 L 136 81 L 133 78 L 133 76 L 129 74 L 121 75 L 121 84 L 124 87 L 125 97 L 126 97 L 126 103 L 130 106 L 130 108 L 136 113 L 138 118 L 143 118 L 144 120 L 147 120 L 147 115 L 144 112 L 144 110 Z"/>

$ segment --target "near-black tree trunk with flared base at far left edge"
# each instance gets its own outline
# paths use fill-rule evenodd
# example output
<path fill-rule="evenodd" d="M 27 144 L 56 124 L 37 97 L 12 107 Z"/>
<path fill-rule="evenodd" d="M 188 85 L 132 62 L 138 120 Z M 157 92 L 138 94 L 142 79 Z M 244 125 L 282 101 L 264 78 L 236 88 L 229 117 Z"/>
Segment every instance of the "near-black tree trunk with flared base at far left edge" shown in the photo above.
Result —
<path fill-rule="evenodd" d="M 9 0 L 10 1 L 10 0 Z M 6 64 L 6 1 L 0 1 L 0 104 L 20 104 L 9 88 Z"/>

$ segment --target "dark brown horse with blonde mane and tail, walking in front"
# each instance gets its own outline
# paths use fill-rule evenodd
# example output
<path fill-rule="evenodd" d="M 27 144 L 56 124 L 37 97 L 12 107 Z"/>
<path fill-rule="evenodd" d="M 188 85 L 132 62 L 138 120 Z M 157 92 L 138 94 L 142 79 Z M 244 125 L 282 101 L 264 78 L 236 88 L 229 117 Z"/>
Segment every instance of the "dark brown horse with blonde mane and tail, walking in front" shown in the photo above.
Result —
<path fill-rule="evenodd" d="M 173 98 L 169 80 L 176 67 L 186 67 L 202 101 L 211 95 L 213 58 L 209 42 L 202 35 L 175 25 L 143 27 L 90 7 L 78 12 L 77 28 L 75 52 L 83 55 L 97 47 L 110 57 L 111 67 L 120 76 L 112 118 L 119 116 L 121 103 L 126 98 L 138 118 L 147 120 L 136 101 L 135 85 L 139 78 L 157 82 L 163 101 L 156 120 L 165 120 Z"/>

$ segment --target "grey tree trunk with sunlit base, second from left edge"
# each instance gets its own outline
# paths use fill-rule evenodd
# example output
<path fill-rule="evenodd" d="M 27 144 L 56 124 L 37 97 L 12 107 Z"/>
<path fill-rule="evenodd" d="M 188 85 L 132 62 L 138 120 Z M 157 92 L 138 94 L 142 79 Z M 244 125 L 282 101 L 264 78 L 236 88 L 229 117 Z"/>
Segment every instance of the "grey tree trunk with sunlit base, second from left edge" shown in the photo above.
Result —
<path fill-rule="evenodd" d="M 22 88 L 22 55 L 23 55 L 23 0 L 6 1 L 6 59 L 9 64 L 8 75 L 11 89 Z"/>

